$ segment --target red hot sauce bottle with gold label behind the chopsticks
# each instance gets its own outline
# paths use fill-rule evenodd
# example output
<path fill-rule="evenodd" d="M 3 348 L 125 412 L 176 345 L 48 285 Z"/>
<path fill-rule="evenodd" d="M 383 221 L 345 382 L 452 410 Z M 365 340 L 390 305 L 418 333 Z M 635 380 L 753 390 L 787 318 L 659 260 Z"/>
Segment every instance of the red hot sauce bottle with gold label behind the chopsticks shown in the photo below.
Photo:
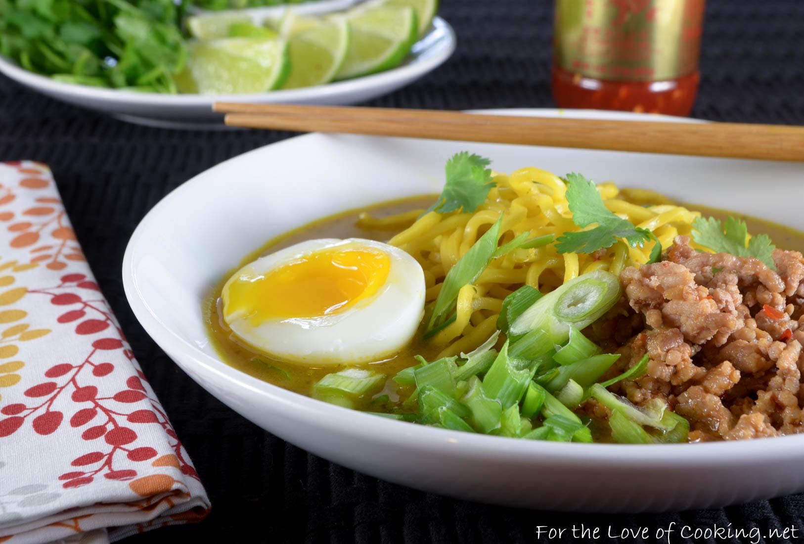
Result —
<path fill-rule="evenodd" d="M 556 0 L 556 104 L 689 115 L 703 18 L 704 0 Z"/>

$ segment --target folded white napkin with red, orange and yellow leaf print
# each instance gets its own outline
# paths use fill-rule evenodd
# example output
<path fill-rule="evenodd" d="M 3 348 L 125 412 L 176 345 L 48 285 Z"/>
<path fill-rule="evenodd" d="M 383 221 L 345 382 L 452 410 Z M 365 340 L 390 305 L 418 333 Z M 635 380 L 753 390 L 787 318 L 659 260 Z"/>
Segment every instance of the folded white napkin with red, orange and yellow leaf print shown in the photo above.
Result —
<path fill-rule="evenodd" d="M 105 542 L 208 511 L 50 170 L 0 163 L 0 542 Z"/>

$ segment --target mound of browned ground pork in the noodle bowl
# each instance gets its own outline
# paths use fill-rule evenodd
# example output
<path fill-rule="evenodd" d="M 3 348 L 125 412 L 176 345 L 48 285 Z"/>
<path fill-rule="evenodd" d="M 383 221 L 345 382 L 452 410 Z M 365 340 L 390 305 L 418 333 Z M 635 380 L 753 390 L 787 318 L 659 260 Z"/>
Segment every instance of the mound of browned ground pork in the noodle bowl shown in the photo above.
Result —
<path fill-rule="evenodd" d="M 775 250 L 773 261 L 697 252 L 678 236 L 662 261 L 626 268 L 616 326 L 633 335 L 613 371 L 646 354 L 648 365 L 613 391 L 664 400 L 691 441 L 804 432 L 804 257 Z"/>

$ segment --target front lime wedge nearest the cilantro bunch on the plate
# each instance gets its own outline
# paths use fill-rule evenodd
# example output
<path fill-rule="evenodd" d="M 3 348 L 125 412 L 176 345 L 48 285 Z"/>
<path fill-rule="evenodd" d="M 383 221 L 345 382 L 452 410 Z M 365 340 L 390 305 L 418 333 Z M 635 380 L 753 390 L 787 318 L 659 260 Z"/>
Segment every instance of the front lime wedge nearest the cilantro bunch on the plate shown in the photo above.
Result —
<path fill-rule="evenodd" d="M 290 72 L 284 39 L 223 38 L 191 42 L 181 92 L 244 94 L 281 88 Z"/>

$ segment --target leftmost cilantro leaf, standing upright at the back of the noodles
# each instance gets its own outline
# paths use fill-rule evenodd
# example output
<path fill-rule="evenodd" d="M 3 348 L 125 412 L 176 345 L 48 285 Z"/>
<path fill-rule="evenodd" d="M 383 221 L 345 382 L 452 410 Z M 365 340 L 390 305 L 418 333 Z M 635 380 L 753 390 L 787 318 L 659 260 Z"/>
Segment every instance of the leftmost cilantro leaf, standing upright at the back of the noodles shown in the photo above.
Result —
<path fill-rule="evenodd" d="M 491 161 L 466 151 L 456 153 L 447 161 L 445 167 L 447 181 L 444 190 L 428 211 L 448 214 L 462 210 L 473 212 L 486 202 L 491 187 L 491 170 L 486 168 Z"/>

